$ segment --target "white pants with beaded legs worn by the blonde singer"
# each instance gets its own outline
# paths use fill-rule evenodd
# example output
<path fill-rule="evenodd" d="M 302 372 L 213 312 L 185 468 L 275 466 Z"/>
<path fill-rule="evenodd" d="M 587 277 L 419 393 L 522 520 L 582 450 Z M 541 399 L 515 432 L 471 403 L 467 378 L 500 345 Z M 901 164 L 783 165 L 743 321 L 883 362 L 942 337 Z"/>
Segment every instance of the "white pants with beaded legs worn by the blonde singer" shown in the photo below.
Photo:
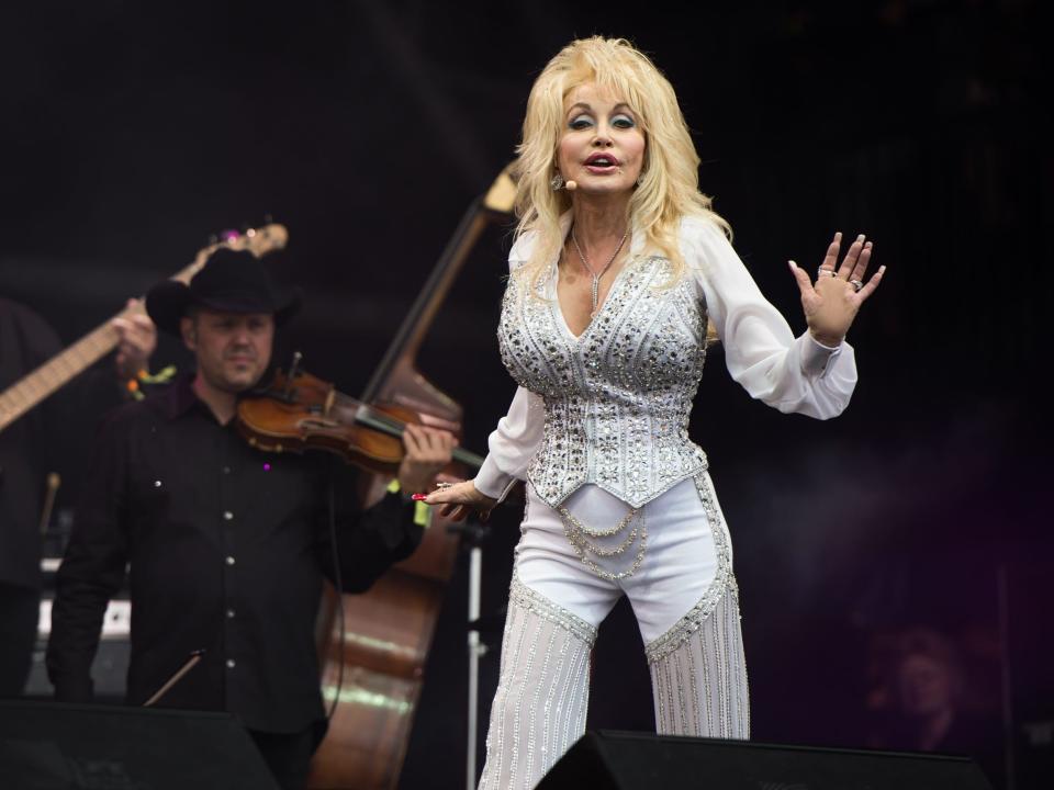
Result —
<path fill-rule="evenodd" d="M 593 531 L 613 528 L 629 510 L 592 485 L 564 507 Z M 658 731 L 749 736 L 731 545 L 709 476 L 682 481 L 623 532 L 591 542 L 601 554 L 586 550 L 585 560 L 610 576 L 632 574 L 598 575 L 580 558 L 561 515 L 528 485 L 481 790 L 532 788 L 585 731 L 590 651 L 624 594 L 646 645 Z M 624 551 L 606 555 L 618 546 Z"/>

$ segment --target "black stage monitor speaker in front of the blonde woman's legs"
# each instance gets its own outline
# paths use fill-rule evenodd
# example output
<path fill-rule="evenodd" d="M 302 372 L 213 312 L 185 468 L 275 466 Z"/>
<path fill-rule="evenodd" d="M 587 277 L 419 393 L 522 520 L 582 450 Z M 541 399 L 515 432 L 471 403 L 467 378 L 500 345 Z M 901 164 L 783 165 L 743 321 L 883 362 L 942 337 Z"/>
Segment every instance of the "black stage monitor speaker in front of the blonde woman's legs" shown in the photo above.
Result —
<path fill-rule="evenodd" d="M 537 790 L 991 790 L 966 757 L 587 732 Z"/>

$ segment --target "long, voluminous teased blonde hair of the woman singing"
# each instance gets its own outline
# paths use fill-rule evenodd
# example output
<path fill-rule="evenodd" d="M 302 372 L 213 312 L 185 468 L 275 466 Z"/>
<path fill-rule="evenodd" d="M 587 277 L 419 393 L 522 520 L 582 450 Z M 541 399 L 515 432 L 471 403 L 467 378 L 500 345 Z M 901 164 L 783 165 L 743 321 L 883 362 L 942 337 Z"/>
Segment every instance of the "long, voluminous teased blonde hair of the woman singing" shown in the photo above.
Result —
<path fill-rule="evenodd" d="M 644 134 L 640 185 L 633 190 L 627 217 L 646 237 L 646 248 L 666 257 L 675 282 L 684 271 L 677 244 L 681 218 L 703 216 L 731 235 L 728 223 L 710 210 L 699 192 L 699 157 L 670 81 L 647 55 L 625 38 L 580 38 L 548 63 L 527 99 L 523 140 L 516 151 L 517 238 L 534 232 L 537 242 L 522 268 L 526 282 L 537 282 L 557 256 L 563 238 L 560 215 L 571 207 L 567 190 L 553 191 L 557 148 L 567 126 L 564 102 L 572 90 L 593 82 L 632 110 Z M 532 290 L 532 289 L 531 289 Z"/>

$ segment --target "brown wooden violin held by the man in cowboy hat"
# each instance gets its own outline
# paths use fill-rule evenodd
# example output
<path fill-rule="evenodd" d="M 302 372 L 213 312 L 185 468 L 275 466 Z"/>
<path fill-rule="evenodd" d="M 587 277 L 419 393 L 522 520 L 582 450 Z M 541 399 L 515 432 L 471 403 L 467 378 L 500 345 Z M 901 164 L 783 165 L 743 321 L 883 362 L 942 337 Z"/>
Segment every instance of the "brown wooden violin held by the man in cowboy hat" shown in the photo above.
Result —
<path fill-rule="evenodd" d="M 418 413 L 393 404 L 365 404 L 329 382 L 299 371 L 300 352 L 289 374 L 279 370 L 267 386 L 238 400 L 238 432 L 268 452 L 325 450 L 374 474 L 394 476 L 403 461 L 403 429 L 422 425 Z M 483 459 L 461 448 L 453 460 L 479 469 Z"/>

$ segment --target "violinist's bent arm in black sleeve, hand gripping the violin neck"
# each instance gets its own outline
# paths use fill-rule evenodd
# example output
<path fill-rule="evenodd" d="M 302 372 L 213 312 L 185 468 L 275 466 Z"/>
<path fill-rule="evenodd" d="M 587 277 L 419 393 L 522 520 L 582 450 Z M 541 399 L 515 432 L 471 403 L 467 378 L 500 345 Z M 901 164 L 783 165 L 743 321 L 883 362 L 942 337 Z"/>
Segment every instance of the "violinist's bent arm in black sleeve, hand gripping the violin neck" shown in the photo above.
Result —
<path fill-rule="evenodd" d="M 425 519 L 419 518 L 416 503 L 410 496 L 427 490 L 436 474 L 450 463 L 453 437 L 433 428 L 407 426 L 403 444 L 405 455 L 399 470 L 397 490 L 390 489 L 366 510 L 356 511 L 350 474 L 335 470 L 330 477 L 336 503 L 336 560 L 340 566 L 340 586 L 346 592 L 368 589 L 393 563 L 413 554 L 424 537 Z M 328 514 L 323 517 L 328 519 Z M 332 540 L 324 545 L 332 545 Z M 337 563 L 332 550 L 324 550 L 323 557 L 326 575 L 336 582 Z"/>

